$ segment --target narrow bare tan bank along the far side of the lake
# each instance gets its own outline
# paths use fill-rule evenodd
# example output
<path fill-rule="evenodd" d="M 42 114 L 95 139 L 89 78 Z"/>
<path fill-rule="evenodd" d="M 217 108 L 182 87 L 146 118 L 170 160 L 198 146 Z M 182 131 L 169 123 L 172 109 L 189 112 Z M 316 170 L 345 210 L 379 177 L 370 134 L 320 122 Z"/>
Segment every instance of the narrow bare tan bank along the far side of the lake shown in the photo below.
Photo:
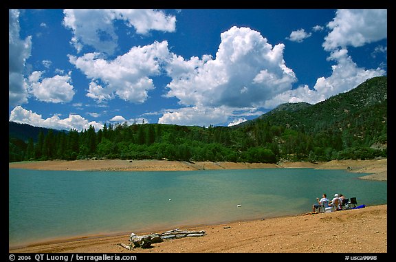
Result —
<path fill-rule="evenodd" d="M 359 177 L 387 181 L 388 159 L 332 160 L 329 162 L 278 162 L 277 164 L 246 162 L 184 162 L 168 160 L 48 160 L 12 162 L 8 168 L 50 171 L 197 171 L 257 168 L 316 168 L 340 169 L 353 173 L 370 174 Z"/>

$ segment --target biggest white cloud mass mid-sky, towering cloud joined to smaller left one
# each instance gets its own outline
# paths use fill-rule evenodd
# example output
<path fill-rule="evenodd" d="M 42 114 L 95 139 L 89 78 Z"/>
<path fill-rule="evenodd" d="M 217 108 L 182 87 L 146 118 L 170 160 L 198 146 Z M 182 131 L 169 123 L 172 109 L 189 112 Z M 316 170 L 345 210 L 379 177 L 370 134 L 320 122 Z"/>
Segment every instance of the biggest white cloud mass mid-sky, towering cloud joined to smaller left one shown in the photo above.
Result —
<path fill-rule="evenodd" d="M 87 96 L 99 102 L 116 97 L 145 102 L 154 88 L 150 76 L 164 70 L 172 79 L 164 96 L 185 107 L 165 110 L 159 122 L 209 125 L 239 118 L 234 111 L 254 115 L 265 100 L 292 88 L 296 76 L 283 61 L 284 47 L 273 47 L 250 28 L 233 27 L 221 34 L 215 59 L 186 60 L 170 53 L 163 41 L 133 47 L 113 61 L 100 53 L 69 56 L 69 61 L 91 78 Z"/>

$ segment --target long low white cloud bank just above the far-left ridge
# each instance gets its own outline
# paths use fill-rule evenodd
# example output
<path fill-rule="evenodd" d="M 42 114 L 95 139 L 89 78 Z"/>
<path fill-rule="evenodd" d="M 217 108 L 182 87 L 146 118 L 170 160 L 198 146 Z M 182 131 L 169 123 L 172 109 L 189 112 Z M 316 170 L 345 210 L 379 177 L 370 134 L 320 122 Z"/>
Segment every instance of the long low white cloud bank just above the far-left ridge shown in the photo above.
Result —
<path fill-rule="evenodd" d="M 21 106 L 17 106 L 11 111 L 10 121 L 30 124 L 34 127 L 45 127 L 60 130 L 76 129 L 81 131 L 89 129 L 90 125 L 95 127 L 95 130 L 103 128 L 102 124 L 95 121 L 89 122 L 87 119 L 76 114 L 69 114 L 68 118 L 63 119 L 59 118 L 58 115 L 43 119 L 41 115 L 34 113 L 31 110 L 26 110 Z"/>

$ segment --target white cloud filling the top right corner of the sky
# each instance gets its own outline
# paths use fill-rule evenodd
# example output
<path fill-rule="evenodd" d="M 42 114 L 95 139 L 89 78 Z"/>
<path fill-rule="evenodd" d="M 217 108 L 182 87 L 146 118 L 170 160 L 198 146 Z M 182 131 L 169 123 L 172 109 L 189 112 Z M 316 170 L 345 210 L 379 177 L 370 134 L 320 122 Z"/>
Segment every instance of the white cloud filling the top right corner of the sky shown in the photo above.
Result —
<path fill-rule="evenodd" d="M 386 39 L 388 30 L 386 9 L 337 10 L 336 17 L 327 25 L 331 32 L 323 47 L 331 51 L 338 47 L 360 47 Z"/>

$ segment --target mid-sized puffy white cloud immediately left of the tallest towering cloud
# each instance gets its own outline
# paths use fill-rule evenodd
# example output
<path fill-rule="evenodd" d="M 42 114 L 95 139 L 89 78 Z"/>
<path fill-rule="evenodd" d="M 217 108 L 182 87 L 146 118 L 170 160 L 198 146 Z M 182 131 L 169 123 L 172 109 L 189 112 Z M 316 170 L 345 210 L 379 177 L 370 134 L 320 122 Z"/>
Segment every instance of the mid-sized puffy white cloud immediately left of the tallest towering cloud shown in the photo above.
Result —
<path fill-rule="evenodd" d="M 153 79 L 161 72 L 161 64 L 168 58 L 168 42 L 155 42 L 143 47 L 132 47 L 129 52 L 107 61 L 99 53 L 69 56 L 84 74 L 91 78 L 87 96 L 98 101 L 118 96 L 129 102 L 144 102 L 148 90 L 154 89 Z M 100 83 L 102 82 L 102 85 Z"/>

